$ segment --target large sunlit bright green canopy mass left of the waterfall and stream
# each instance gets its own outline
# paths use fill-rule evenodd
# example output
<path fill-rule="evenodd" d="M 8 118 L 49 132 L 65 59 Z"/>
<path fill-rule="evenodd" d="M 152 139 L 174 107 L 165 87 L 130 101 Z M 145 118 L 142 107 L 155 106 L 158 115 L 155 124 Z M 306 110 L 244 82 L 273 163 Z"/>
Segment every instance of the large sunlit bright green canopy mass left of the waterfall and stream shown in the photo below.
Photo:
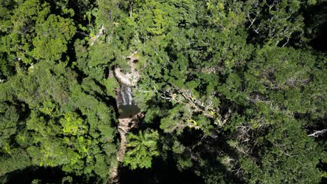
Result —
<path fill-rule="evenodd" d="M 28 132 L 16 132 L 20 116 L 15 107 L 3 104 L 0 117 L 6 124 L 1 125 L 6 127 L 1 129 L 5 133 L 1 135 L 1 152 L 14 153 L 17 144 L 12 137 L 17 135 L 17 143 L 31 157 L 29 164 L 59 166 L 78 175 L 92 176 L 94 171 L 106 180 L 116 150 L 115 128 L 111 127 L 115 115 L 111 107 L 84 93 L 84 86 L 75 81 L 75 74 L 62 63 L 37 63 L 6 84 L 10 84 L 7 89 L 13 89 L 11 95 L 33 109 L 23 118 Z"/>

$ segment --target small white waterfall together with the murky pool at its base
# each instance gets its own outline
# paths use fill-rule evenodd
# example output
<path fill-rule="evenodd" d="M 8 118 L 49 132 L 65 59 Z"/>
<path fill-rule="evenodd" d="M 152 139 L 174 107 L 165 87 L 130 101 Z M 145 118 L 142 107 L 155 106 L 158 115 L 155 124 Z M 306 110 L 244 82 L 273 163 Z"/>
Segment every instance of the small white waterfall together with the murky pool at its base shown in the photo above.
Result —
<path fill-rule="evenodd" d="M 131 87 L 121 84 L 117 95 L 119 118 L 129 118 L 140 112 L 133 100 Z"/>

